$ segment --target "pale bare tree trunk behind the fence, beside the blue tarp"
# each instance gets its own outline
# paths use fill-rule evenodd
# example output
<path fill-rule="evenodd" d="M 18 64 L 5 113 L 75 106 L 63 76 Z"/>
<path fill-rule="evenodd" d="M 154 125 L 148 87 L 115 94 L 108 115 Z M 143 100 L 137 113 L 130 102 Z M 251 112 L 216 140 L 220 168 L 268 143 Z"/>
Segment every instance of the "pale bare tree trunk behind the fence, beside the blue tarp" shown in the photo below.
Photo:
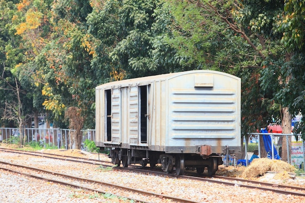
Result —
<path fill-rule="evenodd" d="M 288 112 L 288 108 L 282 108 L 282 129 L 283 134 L 291 134 L 291 119 L 292 115 Z M 287 142 L 288 142 L 288 149 L 287 149 Z M 289 152 L 289 157 L 287 157 L 287 150 Z M 290 162 L 291 158 L 291 136 L 288 136 L 288 140 L 286 136 L 283 137 L 282 142 L 282 160 L 285 162 Z"/>

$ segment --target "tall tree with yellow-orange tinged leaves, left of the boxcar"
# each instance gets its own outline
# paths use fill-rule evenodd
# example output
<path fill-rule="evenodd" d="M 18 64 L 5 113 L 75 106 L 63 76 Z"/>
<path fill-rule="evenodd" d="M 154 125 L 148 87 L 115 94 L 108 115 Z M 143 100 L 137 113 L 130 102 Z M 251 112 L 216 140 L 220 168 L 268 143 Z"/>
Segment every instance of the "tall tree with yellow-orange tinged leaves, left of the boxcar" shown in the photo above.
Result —
<path fill-rule="evenodd" d="M 19 3 L 18 8 L 22 15 L 17 34 L 25 39 L 26 49 L 26 60 L 19 68 L 31 75 L 33 103 L 38 112 L 45 109 L 47 125 L 53 120 L 64 126 L 61 120 L 69 106 L 78 106 L 94 117 L 95 78 L 86 35 L 89 1 L 41 0 Z M 92 119 L 87 123 L 93 127 Z"/>

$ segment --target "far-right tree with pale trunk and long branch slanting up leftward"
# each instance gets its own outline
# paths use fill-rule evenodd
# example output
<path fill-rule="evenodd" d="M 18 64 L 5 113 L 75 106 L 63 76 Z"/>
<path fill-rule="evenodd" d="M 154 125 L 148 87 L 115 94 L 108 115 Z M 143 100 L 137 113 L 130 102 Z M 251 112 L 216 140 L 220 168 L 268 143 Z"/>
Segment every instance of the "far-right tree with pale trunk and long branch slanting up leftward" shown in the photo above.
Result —
<path fill-rule="evenodd" d="M 296 108 L 300 96 L 292 94 L 295 87 L 291 82 L 296 77 L 292 73 L 302 72 L 300 62 L 291 61 L 304 49 L 304 1 L 254 0 L 254 1 L 194 1 L 197 6 L 210 11 L 215 17 L 226 22 L 231 30 L 242 35 L 250 47 L 261 57 L 257 63 L 261 71 L 261 87 L 265 92 L 264 100 L 272 101 L 270 110 L 280 107 L 271 115 L 280 115 L 283 133 L 290 134 L 292 114 L 298 113 Z M 281 44 L 281 43 L 282 44 Z M 283 46 L 284 45 L 284 46 Z M 300 56 L 300 55 L 299 55 Z M 301 56 L 302 57 L 302 56 Z M 284 59 L 284 60 L 283 60 Z M 300 57 L 299 57 L 300 59 Z M 299 61 L 299 60 L 297 60 Z M 292 65 L 298 64 L 293 67 Z M 302 72 L 303 73 L 303 72 Z M 297 99 L 296 99 L 297 98 Z M 267 103 L 264 102 L 263 103 Z M 283 151 L 286 151 L 285 139 Z M 289 157 L 285 157 L 286 161 Z"/>

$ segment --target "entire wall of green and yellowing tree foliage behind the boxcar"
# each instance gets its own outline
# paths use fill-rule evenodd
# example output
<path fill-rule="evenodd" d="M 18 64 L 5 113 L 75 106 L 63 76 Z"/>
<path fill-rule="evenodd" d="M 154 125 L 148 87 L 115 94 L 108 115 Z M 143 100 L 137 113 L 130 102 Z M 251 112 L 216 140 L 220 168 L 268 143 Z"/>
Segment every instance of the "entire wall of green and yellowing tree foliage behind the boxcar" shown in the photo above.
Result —
<path fill-rule="evenodd" d="M 304 3 L 0 0 L 0 113 L 18 101 L 18 87 L 22 105 L 13 109 L 22 107 L 22 118 L 43 113 L 68 126 L 63 114 L 74 106 L 94 129 L 95 86 L 211 69 L 242 78 L 243 134 L 271 115 L 281 119 L 284 106 L 305 114 Z M 286 52 L 294 54 L 290 62 Z"/>

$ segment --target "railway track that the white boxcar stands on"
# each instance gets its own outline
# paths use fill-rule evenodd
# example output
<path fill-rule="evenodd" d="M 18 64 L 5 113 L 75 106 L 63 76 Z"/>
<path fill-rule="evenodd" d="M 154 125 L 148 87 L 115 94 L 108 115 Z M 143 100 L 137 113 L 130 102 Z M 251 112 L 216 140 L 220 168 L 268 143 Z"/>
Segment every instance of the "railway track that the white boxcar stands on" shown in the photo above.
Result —
<path fill-rule="evenodd" d="M 21 153 L 21 154 L 29 154 L 33 155 L 33 152 L 27 152 L 27 151 L 20 151 L 20 150 L 11 150 L 11 149 L 2 149 L 7 152 L 15 152 L 15 153 Z M 43 156 L 48 158 L 54 158 L 53 156 L 57 156 L 54 154 L 47 154 L 40 152 L 34 153 L 36 156 Z M 80 163 L 87 163 L 87 164 L 96 164 L 96 165 L 103 165 L 103 166 L 113 166 L 111 163 L 108 163 L 109 165 L 106 165 L 105 161 L 97 162 L 99 160 L 84 160 L 83 158 L 77 158 L 77 157 L 66 157 L 66 156 L 59 156 L 59 159 L 67 160 L 67 161 L 76 161 Z M 103 164 L 102 164 L 103 162 Z M 213 178 L 208 177 L 196 177 L 196 173 L 189 173 L 186 172 L 186 174 L 189 175 L 182 175 L 177 176 L 174 174 L 167 174 L 164 172 L 159 171 L 151 171 L 147 170 L 146 168 L 140 167 L 140 166 L 134 166 L 134 167 L 128 167 L 128 168 L 116 168 L 116 169 L 123 169 L 123 170 L 130 170 L 133 172 L 141 172 L 141 173 L 148 173 L 148 174 L 154 174 L 154 175 L 162 175 L 162 176 L 168 176 L 173 178 L 179 178 L 179 179 L 191 179 L 196 181 L 203 181 L 203 182 L 211 182 L 211 183 L 217 183 L 217 184 L 224 184 L 224 185 L 230 185 L 230 186 L 238 186 L 238 187 L 245 187 L 245 188 L 251 188 L 251 189 L 260 189 L 264 191 L 272 191 L 274 193 L 278 194 L 285 194 L 285 195 L 295 195 L 295 196 L 305 196 L 305 188 L 299 187 L 299 186 L 291 186 L 291 185 L 278 185 L 278 184 L 271 184 L 266 182 L 259 182 L 259 181 L 252 181 L 252 180 L 246 180 L 246 179 L 239 179 L 239 178 L 231 178 L 231 177 L 224 177 L 224 176 L 214 176 Z"/>

